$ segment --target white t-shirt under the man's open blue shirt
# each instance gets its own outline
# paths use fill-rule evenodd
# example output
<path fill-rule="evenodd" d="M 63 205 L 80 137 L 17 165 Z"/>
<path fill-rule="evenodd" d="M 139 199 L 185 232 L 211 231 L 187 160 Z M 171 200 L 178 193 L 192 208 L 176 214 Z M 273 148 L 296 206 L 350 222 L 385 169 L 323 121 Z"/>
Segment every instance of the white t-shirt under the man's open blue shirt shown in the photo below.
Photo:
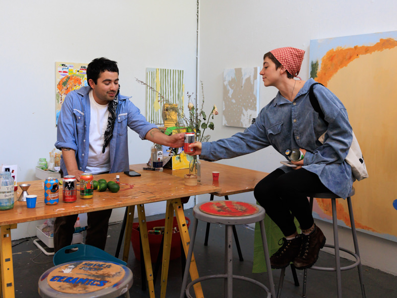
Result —
<path fill-rule="evenodd" d="M 110 153 L 109 146 L 106 147 L 105 153 L 102 153 L 105 142 L 105 131 L 108 125 L 109 111 L 108 105 L 97 103 L 89 92 L 90 98 L 90 135 L 89 135 L 89 152 L 88 162 L 85 171 L 87 173 L 99 174 L 110 170 Z"/>

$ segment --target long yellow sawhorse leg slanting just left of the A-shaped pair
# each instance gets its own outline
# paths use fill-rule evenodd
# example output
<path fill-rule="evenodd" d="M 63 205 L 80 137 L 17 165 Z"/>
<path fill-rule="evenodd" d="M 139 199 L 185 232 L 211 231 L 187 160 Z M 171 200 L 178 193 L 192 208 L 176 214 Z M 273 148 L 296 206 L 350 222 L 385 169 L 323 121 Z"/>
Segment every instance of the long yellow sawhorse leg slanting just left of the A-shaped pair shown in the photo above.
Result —
<path fill-rule="evenodd" d="M 145 208 L 143 204 L 137 205 L 136 208 L 138 210 L 139 234 L 140 234 L 140 239 L 142 241 L 143 260 L 145 262 L 145 268 L 146 268 L 146 279 L 149 288 L 149 297 L 154 298 L 153 269 L 152 269 L 152 260 L 150 258 L 149 239 L 147 237 Z"/>

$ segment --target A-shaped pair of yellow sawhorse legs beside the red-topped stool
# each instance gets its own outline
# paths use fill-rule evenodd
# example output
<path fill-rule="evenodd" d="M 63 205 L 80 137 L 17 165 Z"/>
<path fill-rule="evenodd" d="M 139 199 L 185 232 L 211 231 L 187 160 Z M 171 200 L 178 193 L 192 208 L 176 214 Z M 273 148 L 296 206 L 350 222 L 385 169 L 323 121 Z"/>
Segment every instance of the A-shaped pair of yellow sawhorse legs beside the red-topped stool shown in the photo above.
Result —
<path fill-rule="evenodd" d="M 181 235 L 181 240 L 185 255 L 188 255 L 190 236 L 188 231 L 188 225 L 186 224 L 185 214 L 183 212 L 181 199 L 173 199 L 167 201 L 167 208 L 165 213 L 165 228 L 164 228 L 164 248 L 163 248 L 163 266 L 161 269 L 161 298 L 165 298 L 165 292 L 167 289 L 168 280 L 168 268 L 171 252 L 171 239 L 172 239 L 172 226 L 174 223 L 174 211 L 175 216 L 178 221 L 179 233 Z M 193 280 L 199 278 L 199 272 L 197 270 L 196 261 L 194 254 L 192 255 L 192 261 L 190 264 L 190 276 Z M 197 298 L 204 298 L 201 284 L 197 283 L 193 286 L 195 289 Z"/>

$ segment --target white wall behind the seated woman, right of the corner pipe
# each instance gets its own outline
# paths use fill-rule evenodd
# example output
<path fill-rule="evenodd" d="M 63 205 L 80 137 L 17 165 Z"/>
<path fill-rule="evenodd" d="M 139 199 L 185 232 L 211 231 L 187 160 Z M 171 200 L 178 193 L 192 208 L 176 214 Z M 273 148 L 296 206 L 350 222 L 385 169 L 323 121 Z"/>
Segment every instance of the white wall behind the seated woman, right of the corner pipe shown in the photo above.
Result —
<path fill-rule="evenodd" d="M 306 80 L 311 39 L 397 30 L 397 2 L 391 0 L 201 0 L 199 10 L 199 80 L 204 83 L 207 105 L 218 107 L 222 107 L 224 69 L 261 66 L 266 52 L 293 46 L 306 51 L 300 72 Z M 261 86 L 260 92 L 263 107 L 276 89 Z M 214 120 L 212 140 L 243 131 L 222 126 L 221 117 Z M 279 160 L 279 154 L 267 148 L 220 162 L 269 172 L 279 166 Z M 208 198 L 199 198 L 204 199 Z M 252 193 L 230 199 L 254 202 Z M 332 242 L 331 229 L 326 235 Z M 359 233 L 359 243 L 363 264 L 397 275 L 395 242 Z"/>

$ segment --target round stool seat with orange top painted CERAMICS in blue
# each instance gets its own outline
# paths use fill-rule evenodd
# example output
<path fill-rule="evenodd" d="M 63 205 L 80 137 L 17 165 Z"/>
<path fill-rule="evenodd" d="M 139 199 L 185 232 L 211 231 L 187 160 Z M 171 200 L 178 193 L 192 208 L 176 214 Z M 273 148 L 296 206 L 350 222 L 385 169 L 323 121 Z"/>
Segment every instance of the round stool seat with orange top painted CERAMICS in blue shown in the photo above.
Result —
<path fill-rule="evenodd" d="M 129 298 L 132 272 L 124 265 L 83 260 L 50 268 L 39 280 L 42 298 Z"/>

